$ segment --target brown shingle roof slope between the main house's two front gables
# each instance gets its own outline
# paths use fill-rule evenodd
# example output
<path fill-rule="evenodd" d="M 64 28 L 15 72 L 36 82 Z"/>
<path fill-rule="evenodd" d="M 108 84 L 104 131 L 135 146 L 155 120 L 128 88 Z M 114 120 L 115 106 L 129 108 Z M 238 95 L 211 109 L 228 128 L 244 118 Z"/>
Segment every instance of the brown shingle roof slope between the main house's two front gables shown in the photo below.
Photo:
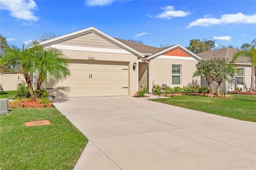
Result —
<path fill-rule="evenodd" d="M 138 51 L 140 53 L 156 54 L 160 51 L 163 51 L 164 49 L 172 47 L 172 46 L 169 46 L 169 47 L 164 47 L 164 48 L 158 48 L 158 47 L 152 47 L 149 45 L 144 45 L 144 44 L 140 44 L 140 43 L 136 43 L 136 42 L 122 40 L 119 38 L 115 38 L 115 39 L 120 41 L 121 43 L 124 43 L 125 45 L 131 47 L 132 49 L 135 49 L 136 51 Z"/>

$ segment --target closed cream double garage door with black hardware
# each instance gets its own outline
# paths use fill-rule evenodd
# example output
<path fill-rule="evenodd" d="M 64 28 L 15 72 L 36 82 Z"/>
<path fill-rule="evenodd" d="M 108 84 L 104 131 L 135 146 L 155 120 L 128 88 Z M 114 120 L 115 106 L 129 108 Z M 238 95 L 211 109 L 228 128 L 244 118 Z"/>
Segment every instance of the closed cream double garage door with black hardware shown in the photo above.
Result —
<path fill-rule="evenodd" d="M 128 95 L 128 63 L 70 63 L 71 76 L 61 84 L 69 97 Z"/>

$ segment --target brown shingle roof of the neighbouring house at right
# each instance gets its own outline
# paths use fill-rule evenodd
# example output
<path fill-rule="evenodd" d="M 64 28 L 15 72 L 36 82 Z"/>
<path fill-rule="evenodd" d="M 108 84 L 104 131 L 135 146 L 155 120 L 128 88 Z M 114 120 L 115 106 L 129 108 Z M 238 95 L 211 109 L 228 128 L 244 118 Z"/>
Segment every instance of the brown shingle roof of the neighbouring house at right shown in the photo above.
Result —
<path fill-rule="evenodd" d="M 221 48 L 221 49 L 215 49 L 211 51 L 206 51 L 202 53 L 197 53 L 200 58 L 210 58 L 210 57 L 226 57 L 228 58 L 228 61 L 232 61 L 232 57 L 234 53 L 240 51 L 239 49 L 234 49 L 231 47 Z M 251 59 L 249 57 L 238 57 L 236 60 L 236 63 L 252 63 Z"/>

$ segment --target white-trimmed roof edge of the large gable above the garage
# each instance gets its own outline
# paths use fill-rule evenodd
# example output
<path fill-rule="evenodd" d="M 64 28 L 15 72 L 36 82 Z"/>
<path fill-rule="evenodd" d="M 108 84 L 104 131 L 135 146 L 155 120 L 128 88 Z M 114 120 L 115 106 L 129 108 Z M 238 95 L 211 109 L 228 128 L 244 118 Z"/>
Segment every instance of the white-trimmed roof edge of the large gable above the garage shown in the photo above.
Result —
<path fill-rule="evenodd" d="M 129 47 L 128 45 L 125 45 L 124 43 L 108 36 L 104 32 L 101 32 L 100 30 L 98 30 L 94 27 L 89 27 L 89 28 L 86 28 L 86 29 L 83 29 L 83 30 L 72 32 L 70 34 L 66 34 L 64 36 L 60 36 L 60 37 L 57 37 L 57 38 L 46 40 L 44 42 L 41 42 L 40 45 L 42 45 L 43 47 L 48 47 L 48 46 L 54 45 L 56 43 L 64 42 L 64 41 L 70 40 L 72 38 L 76 38 L 76 37 L 79 37 L 79 36 L 82 36 L 82 35 L 85 35 L 85 34 L 89 34 L 91 32 L 94 32 L 95 34 L 98 34 L 98 35 L 106 38 L 107 40 L 110 40 L 110 42 L 112 42 L 112 43 L 116 43 L 116 44 L 120 45 L 121 47 L 124 47 L 124 49 L 126 49 L 127 51 L 130 51 L 131 53 L 133 53 L 133 54 L 135 54 L 139 57 L 143 56 L 142 53 L 136 51 L 136 49 L 133 49 L 133 48 Z"/>

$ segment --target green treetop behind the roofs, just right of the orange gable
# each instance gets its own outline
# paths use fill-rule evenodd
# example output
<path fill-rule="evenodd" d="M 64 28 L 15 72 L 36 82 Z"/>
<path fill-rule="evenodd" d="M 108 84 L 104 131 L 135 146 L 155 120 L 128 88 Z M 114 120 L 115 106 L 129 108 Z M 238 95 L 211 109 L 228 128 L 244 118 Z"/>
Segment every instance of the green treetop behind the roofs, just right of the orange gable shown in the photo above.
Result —
<path fill-rule="evenodd" d="M 186 47 L 192 53 L 202 53 L 205 51 L 210 51 L 215 47 L 215 40 L 206 40 L 200 41 L 200 39 L 190 40 L 189 46 Z"/>

